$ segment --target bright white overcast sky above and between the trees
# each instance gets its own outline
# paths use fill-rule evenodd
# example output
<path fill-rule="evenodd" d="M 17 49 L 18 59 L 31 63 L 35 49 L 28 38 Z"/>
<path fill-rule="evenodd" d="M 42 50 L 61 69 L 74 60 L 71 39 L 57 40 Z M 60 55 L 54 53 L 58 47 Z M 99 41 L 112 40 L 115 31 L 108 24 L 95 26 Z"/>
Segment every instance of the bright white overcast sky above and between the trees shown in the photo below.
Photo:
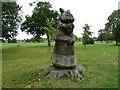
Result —
<path fill-rule="evenodd" d="M 36 0 L 17 0 L 22 6 L 24 15 L 32 15 L 33 7 L 29 3 Z M 59 8 L 70 10 L 75 18 L 74 34 L 82 37 L 82 27 L 84 24 L 91 26 L 91 31 L 94 32 L 92 37 L 98 36 L 98 30 L 103 29 L 107 23 L 107 17 L 118 9 L 118 2 L 120 0 L 38 0 L 50 1 L 54 10 L 59 12 Z M 31 38 L 25 32 L 19 30 L 17 39 Z"/>

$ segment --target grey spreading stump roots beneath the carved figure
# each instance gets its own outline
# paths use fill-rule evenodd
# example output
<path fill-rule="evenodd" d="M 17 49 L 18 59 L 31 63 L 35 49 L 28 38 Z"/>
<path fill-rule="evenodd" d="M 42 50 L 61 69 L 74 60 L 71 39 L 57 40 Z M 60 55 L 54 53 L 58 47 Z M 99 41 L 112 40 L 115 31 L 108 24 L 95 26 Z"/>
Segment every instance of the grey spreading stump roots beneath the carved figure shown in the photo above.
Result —
<path fill-rule="evenodd" d="M 86 72 L 87 70 L 82 65 L 76 65 L 73 69 L 58 69 L 54 66 L 48 67 L 44 73 L 47 74 L 46 78 L 57 79 L 64 75 L 70 77 L 71 79 L 76 78 L 79 81 L 83 81 L 83 77 L 80 75 L 81 72 Z"/>

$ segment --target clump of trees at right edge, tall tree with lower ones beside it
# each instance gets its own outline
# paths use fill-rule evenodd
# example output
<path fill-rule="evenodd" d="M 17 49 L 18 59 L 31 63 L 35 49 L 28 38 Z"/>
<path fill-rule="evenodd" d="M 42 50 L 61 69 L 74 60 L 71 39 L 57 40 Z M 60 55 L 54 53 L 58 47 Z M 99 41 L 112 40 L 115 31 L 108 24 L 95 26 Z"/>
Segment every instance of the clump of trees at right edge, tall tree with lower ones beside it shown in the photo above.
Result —
<path fill-rule="evenodd" d="M 107 20 L 105 28 L 98 31 L 98 40 L 101 42 L 115 40 L 118 45 L 120 43 L 120 9 L 113 11 Z"/>

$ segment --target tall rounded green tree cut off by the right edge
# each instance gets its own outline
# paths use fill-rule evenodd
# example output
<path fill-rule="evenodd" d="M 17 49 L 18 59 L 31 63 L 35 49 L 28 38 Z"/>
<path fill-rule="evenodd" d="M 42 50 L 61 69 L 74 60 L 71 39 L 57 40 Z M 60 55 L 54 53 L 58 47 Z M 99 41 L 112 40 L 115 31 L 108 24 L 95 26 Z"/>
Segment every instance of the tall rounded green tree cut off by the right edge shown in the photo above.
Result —
<path fill-rule="evenodd" d="M 116 45 L 120 42 L 120 9 L 114 10 L 108 17 L 106 27 L 112 32 Z"/>

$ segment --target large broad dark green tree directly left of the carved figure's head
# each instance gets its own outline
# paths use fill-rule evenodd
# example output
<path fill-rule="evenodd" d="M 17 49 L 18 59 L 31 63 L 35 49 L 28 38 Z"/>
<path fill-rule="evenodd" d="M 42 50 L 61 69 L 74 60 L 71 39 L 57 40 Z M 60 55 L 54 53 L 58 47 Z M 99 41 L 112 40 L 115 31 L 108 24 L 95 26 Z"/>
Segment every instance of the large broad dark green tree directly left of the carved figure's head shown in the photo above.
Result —
<path fill-rule="evenodd" d="M 50 46 L 50 37 L 53 34 L 53 27 L 57 27 L 57 21 L 58 12 L 52 10 L 49 2 L 40 1 L 37 2 L 32 16 L 26 16 L 26 21 L 21 25 L 21 30 L 39 37 L 46 34 L 48 46 Z M 54 25 L 50 25 L 52 24 L 51 22 L 54 22 Z"/>

